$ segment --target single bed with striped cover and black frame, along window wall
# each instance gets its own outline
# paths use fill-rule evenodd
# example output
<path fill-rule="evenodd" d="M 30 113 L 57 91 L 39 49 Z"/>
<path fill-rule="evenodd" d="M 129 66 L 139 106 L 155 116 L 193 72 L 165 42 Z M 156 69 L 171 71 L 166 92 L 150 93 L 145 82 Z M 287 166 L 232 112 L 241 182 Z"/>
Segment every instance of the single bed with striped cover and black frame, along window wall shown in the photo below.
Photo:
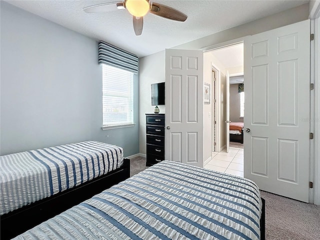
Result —
<path fill-rule="evenodd" d="M 1 239 L 13 237 L 130 175 L 123 149 L 83 141 L 0 156 Z"/>

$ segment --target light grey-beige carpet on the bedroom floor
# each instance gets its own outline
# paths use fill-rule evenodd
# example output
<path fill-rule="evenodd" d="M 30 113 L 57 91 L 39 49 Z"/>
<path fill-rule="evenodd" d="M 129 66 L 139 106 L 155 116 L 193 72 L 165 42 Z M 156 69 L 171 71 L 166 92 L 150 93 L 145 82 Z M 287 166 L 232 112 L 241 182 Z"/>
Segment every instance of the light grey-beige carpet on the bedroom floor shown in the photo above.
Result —
<path fill-rule="evenodd" d="M 130 159 L 130 176 L 146 168 L 145 157 Z M 320 239 L 320 206 L 265 191 L 261 197 L 265 199 L 265 239 Z"/>

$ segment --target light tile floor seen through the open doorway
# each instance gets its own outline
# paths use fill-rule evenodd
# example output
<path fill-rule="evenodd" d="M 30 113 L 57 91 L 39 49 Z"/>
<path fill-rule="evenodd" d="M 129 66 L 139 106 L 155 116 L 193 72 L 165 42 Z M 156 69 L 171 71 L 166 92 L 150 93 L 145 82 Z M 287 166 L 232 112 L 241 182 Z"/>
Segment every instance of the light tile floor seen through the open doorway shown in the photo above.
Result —
<path fill-rule="evenodd" d="M 243 148 L 224 148 L 221 152 L 212 152 L 212 159 L 204 168 L 243 176 Z"/>

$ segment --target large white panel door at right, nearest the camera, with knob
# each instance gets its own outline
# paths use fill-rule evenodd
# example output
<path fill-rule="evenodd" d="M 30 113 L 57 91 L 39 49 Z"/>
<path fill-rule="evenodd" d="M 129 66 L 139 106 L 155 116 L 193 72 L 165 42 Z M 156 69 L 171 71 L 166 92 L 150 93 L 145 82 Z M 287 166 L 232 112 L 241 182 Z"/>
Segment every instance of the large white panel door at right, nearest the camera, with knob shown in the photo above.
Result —
<path fill-rule="evenodd" d="M 308 202 L 309 20 L 244 40 L 244 177 Z"/>

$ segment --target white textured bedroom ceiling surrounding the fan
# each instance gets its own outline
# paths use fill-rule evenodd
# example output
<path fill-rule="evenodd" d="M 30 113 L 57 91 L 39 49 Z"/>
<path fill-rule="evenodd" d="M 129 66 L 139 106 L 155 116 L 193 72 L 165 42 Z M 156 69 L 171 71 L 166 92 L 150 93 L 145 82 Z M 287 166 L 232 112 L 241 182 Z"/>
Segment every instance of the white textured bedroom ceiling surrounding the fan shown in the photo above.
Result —
<path fill-rule="evenodd" d="M 215 32 L 225 30 L 308 0 L 151 0 L 183 13 L 185 22 L 151 13 L 144 16 L 143 31 L 136 36 L 126 9 L 86 13 L 83 7 L 115 0 L 6 0 L 74 31 L 146 56 Z"/>

